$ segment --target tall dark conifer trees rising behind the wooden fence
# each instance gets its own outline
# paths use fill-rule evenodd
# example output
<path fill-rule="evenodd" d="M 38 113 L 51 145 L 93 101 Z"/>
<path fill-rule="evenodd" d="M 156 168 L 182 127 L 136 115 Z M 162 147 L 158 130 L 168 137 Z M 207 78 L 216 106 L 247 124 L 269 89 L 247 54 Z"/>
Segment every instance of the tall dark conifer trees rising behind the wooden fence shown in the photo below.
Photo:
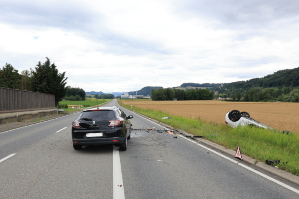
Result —
<path fill-rule="evenodd" d="M 11 64 L 0 67 L 0 87 L 42 92 L 55 95 L 55 105 L 66 95 L 65 72 L 59 73 L 56 65 L 46 57 L 45 63 L 40 61 L 35 70 L 23 70 L 19 74 Z"/>

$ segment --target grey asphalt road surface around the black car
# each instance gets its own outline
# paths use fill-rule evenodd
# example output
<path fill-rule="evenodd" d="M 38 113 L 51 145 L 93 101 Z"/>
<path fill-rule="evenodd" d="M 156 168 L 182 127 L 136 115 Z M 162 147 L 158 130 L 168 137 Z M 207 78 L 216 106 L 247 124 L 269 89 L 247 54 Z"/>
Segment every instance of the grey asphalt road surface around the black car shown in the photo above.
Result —
<path fill-rule="evenodd" d="M 181 136 L 147 130 L 163 127 L 123 110 L 136 129 L 126 151 L 74 150 L 80 113 L 0 133 L 0 198 L 299 198 L 299 186 L 246 164 L 296 193 Z"/>

